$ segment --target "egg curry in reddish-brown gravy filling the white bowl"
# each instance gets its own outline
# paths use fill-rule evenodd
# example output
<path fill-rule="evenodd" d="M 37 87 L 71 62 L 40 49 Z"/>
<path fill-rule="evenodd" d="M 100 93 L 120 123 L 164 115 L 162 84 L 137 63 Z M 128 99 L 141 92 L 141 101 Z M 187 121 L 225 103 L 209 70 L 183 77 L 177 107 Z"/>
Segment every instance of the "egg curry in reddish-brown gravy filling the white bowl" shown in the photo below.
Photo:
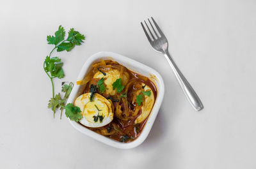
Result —
<path fill-rule="evenodd" d="M 119 142 L 140 136 L 157 96 L 149 78 L 101 59 L 76 83 L 85 86 L 74 101 L 83 115 L 79 124 Z"/>

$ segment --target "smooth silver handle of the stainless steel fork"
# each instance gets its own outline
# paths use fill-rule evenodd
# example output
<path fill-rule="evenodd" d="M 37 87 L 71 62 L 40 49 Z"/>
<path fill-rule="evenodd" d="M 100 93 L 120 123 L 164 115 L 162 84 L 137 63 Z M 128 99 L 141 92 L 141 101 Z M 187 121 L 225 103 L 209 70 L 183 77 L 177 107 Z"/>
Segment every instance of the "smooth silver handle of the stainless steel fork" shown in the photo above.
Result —
<path fill-rule="evenodd" d="M 188 80 L 182 75 L 181 71 L 179 70 L 178 66 L 173 61 L 171 55 L 168 51 L 164 51 L 164 56 L 166 57 L 167 61 L 169 62 L 172 70 L 179 81 L 180 87 L 182 88 L 184 94 L 188 98 L 189 103 L 195 108 L 196 111 L 200 111 L 204 108 L 200 98 L 197 96 L 194 89 L 189 84 Z"/>

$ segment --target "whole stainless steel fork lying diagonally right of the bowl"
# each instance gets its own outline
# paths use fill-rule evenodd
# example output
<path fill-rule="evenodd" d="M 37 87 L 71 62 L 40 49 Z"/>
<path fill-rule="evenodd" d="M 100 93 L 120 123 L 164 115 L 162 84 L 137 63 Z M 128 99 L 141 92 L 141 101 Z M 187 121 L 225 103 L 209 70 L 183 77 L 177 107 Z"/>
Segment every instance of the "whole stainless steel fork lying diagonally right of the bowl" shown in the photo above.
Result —
<path fill-rule="evenodd" d="M 197 96 L 196 92 L 191 87 L 188 80 L 186 80 L 186 78 L 182 75 L 179 68 L 177 67 L 177 65 L 175 64 L 171 55 L 168 52 L 168 41 L 167 41 L 166 37 L 164 36 L 164 34 L 161 31 L 161 29 L 159 28 L 159 26 L 156 24 L 156 21 L 154 20 L 154 18 L 151 17 L 151 19 L 152 19 L 154 26 L 156 27 L 159 34 L 157 34 L 156 29 L 152 26 L 149 18 L 148 18 L 148 22 L 151 26 L 151 29 L 154 31 L 154 34 L 148 27 L 148 24 L 145 20 L 144 20 L 144 22 L 145 22 L 145 25 L 147 26 L 148 31 L 145 29 L 143 22 L 140 22 L 140 24 L 143 28 L 143 31 L 148 38 L 150 45 L 157 52 L 164 54 L 164 56 L 166 57 L 167 61 L 170 64 L 170 66 L 172 67 L 172 70 L 173 70 L 175 76 L 177 77 L 177 80 L 179 81 L 180 87 L 184 91 L 184 94 L 188 98 L 188 101 L 191 103 L 191 105 L 195 108 L 196 111 L 202 110 L 204 108 L 204 106 L 203 106 L 202 102 L 200 101 L 200 98 Z M 148 32 L 150 33 L 150 35 L 148 34 Z M 151 36 L 151 38 L 150 38 L 150 36 Z"/>

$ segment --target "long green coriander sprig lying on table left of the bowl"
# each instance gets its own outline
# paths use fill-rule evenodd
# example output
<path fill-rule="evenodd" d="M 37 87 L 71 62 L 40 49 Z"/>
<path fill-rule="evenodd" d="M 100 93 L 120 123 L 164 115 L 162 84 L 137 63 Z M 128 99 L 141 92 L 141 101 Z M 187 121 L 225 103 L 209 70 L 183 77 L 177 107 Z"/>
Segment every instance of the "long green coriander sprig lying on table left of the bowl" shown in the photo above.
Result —
<path fill-rule="evenodd" d="M 57 50 L 57 52 L 61 52 L 63 50 L 66 50 L 69 52 L 72 50 L 76 45 L 81 45 L 84 41 L 84 35 L 80 34 L 77 31 L 74 31 L 74 28 L 71 28 L 70 31 L 68 31 L 68 37 L 65 39 L 65 29 L 62 26 L 59 26 L 58 31 L 55 32 L 54 36 L 47 36 L 47 41 L 49 45 L 54 45 L 54 48 L 51 50 L 49 55 L 45 57 L 44 61 L 44 71 L 47 74 L 47 76 L 51 80 L 52 84 L 52 98 L 49 101 L 48 108 L 51 108 L 52 111 L 56 112 L 56 109 L 60 108 L 61 109 L 61 114 L 62 110 L 65 106 L 65 101 L 68 98 L 72 87 L 73 83 L 70 83 L 69 85 L 64 85 L 62 91 L 65 92 L 65 96 L 62 99 L 60 96 L 60 93 L 56 94 L 54 97 L 54 84 L 53 84 L 53 79 L 54 78 L 63 78 L 65 77 L 64 71 L 62 69 L 63 62 L 61 62 L 61 59 L 59 57 L 51 57 L 52 52 L 54 50 Z M 71 104 L 71 103 L 70 103 Z M 66 109 L 66 115 L 67 115 L 67 108 Z M 72 119 L 72 118 L 70 118 Z"/>

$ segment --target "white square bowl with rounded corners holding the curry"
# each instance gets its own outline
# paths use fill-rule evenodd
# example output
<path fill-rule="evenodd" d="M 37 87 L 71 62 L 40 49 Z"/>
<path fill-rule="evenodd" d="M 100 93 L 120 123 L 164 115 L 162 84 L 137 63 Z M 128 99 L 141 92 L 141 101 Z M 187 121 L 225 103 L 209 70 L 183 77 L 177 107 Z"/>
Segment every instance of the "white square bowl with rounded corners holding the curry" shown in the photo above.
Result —
<path fill-rule="evenodd" d="M 111 138 L 108 138 L 106 136 L 99 135 L 98 133 L 95 133 L 94 131 L 85 128 L 84 126 L 82 126 L 76 121 L 70 121 L 70 120 L 69 121 L 74 128 L 76 128 L 78 131 L 81 131 L 81 133 L 84 133 L 84 135 L 88 135 L 94 138 L 95 140 L 98 140 L 99 142 L 102 142 L 102 143 L 106 143 L 107 145 L 110 145 L 112 147 L 116 147 L 119 149 L 131 149 L 131 148 L 137 147 L 138 145 L 143 143 L 144 140 L 147 138 L 148 133 L 152 128 L 152 125 L 156 119 L 159 108 L 163 101 L 163 97 L 164 97 L 163 78 L 161 77 L 161 75 L 159 75 L 159 73 L 156 70 L 138 61 L 134 61 L 129 57 L 125 57 L 120 54 L 115 54 L 113 52 L 99 52 L 89 57 L 89 59 L 84 63 L 83 68 L 77 77 L 77 80 L 82 80 L 87 75 L 87 73 L 89 73 L 89 71 L 92 70 L 92 64 L 94 64 L 95 62 L 99 62 L 100 59 L 112 59 L 113 61 L 116 61 L 119 64 L 124 65 L 129 70 L 132 70 L 136 73 L 140 73 L 141 75 L 144 75 L 145 77 L 150 78 L 150 80 L 152 80 L 156 84 L 156 87 L 157 87 L 156 101 L 148 117 L 148 120 L 144 126 L 144 129 L 141 131 L 141 135 L 138 136 L 138 138 L 136 138 L 134 141 L 129 143 L 122 143 L 122 142 L 113 140 Z M 77 85 L 75 83 L 67 103 L 74 103 L 77 96 L 83 94 L 84 87 L 85 85 Z"/>

